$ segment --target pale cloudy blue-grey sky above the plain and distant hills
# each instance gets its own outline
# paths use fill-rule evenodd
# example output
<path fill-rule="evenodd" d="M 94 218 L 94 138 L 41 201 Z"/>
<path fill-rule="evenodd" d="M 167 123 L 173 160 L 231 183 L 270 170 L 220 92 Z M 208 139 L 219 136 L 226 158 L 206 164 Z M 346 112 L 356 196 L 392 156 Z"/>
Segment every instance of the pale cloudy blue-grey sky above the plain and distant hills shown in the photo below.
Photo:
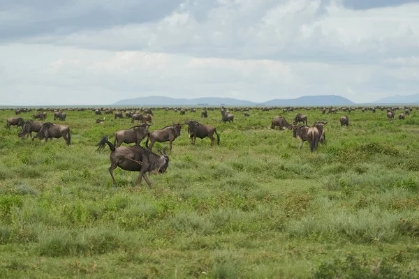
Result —
<path fill-rule="evenodd" d="M 1 105 L 419 93 L 419 0 L 0 0 Z"/>

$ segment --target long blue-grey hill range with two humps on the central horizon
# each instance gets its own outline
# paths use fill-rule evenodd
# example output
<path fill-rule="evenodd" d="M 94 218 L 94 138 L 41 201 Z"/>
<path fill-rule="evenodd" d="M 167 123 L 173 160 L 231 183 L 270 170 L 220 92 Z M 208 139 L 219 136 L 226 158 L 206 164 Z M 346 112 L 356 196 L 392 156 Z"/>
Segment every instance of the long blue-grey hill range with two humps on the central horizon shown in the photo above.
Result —
<path fill-rule="evenodd" d="M 267 105 L 267 106 L 319 106 L 319 105 L 353 105 L 354 103 L 347 98 L 335 95 L 324 95 L 324 96 L 302 96 L 296 99 L 274 99 L 268 100 L 263 103 L 254 103 L 248 100 L 239 100 L 234 98 L 169 98 L 163 96 L 149 96 L 140 97 L 126 100 L 119 100 L 113 105 L 141 105 L 141 106 L 154 106 L 154 105 L 170 105 L 170 106 L 182 106 L 182 105 L 228 105 L 228 106 L 254 106 L 254 105 Z"/>

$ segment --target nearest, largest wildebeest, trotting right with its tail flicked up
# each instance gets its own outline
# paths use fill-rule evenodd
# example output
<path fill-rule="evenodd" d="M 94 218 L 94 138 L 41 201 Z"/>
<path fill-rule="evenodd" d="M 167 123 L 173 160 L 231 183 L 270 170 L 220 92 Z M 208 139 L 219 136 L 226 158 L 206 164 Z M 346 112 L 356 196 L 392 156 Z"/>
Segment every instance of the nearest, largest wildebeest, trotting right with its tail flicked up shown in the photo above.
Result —
<path fill-rule="evenodd" d="M 163 148 L 163 152 L 158 149 L 160 153 L 159 156 L 142 146 L 115 147 L 111 142 L 108 141 L 107 137 L 103 137 L 102 140 L 97 144 L 98 149 L 96 151 L 104 149 L 105 144 L 108 144 L 111 151 L 109 156 L 109 173 L 112 177 L 114 187 L 117 186 L 117 181 L 115 181 L 115 177 L 113 176 L 113 170 L 117 167 L 131 172 L 140 172 L 136 186 L 140 186 L 142 177 L 144 177 L 145 182 L 147 182 L 149 188 L 152 188 L 152 183 L 146 176 L 147 172 L 150 174 L 163 174 L 166 172 L 166 169 L 169 166 L 169 156 L 166 153 L 167 146 Z"/>

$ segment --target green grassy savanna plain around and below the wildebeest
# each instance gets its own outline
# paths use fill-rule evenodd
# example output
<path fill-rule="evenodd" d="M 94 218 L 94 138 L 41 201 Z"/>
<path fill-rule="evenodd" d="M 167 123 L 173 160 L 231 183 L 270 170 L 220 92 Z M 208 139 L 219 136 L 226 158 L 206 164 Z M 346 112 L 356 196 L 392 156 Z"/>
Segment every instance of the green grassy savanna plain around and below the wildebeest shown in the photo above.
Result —
<path fill-rule="evenodd" d="M 150 130 L 197 111 L 154 110 Z M 314 153 L 270 128 L 297 112 L 328 121 Z M 4 128 L 14 112 L 0 111 L 0 278 L 419 278 L 419 111 L 233 114 L 202 120 L 214 148 L 191 146 L 185 126 L 152 190 L 119 168 L 115 190 L 110 150 L 95 144 L 129 119 L 67 112 L 66 146 L 18 138 Z"/>

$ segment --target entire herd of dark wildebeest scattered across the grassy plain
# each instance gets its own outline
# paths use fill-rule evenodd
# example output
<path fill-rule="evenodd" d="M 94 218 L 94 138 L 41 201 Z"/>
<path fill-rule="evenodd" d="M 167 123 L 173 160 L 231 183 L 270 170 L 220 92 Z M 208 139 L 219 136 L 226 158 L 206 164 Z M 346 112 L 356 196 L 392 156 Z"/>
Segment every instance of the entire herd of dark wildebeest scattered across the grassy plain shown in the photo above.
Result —
<path fill-rule="evenodd" d="M 415 107 L 418 110 L 418 107 Z M 233 112 L 243 111 L 244 116 L 249 117 L 250 110 L 262 110 L 262 111 L 269 111 L 269 110 L 277 110 L 282 109 L 283 112 L 293 112 L 293 110 L 301 110 L 302 107 L 233 107 L 230 110 Z M 306 107 L 306 110 L 314 110 L 316 108 L 313 107 Z M 325 114 L 328 111 L 328 114 L 336 114 L 339 110 L 342 112 L 350 113 L 353 110 L 360 109 L 362 112 L 370 110 L 372 112 L 376 112 L 376 110 L 386 110 L 386 115 L 389 119 L 394 119 L 395 111 L 396 110 L 403 110 L 404 113 L 400 113 L 398 118 L 400 120 L 405 119 L 406 116 L 410 115 L 411 110 L 413 107 L 340 107 L 337 108 L 326 108 L 326 107 L 318 107 L 319 110 L 322 111 L 322 114 Z M 4 109 L 3 109 L 4 110 Z M 66 109 L 66 110 L 87 110 L 85 108 L 81 109 Z M 112 109 L 91 109 L 94 112 L 94 115 L 102 115 L 103 114 L 114 114 L 114 110 Z M 133 110 L 133 111 L 132 111 Z M 173 112 L 180 112 L 180 114 L 185 114 L 188 110 L 189 112 L 196 112 L 196 108 L 187 108 L 187 107 L 161 107 L 161 108 L 154 108 L 154 110 L 173 110 Z M 219 110 L 221 112 L 221 120 L 220 122 L 230 124 L 226 125 L 233 125 L 234 123 L 234 116 L 230 113 L 226 107 L 205 107 L 201 112 L 201 118 L 207 118 L 208 112 L 207 111 L 214 111 Z M 39 112 L 36 112 L 32 115 L 32 119 L 28 119 L 24 121 L 24 119 L 20 116 L 10 117 L 6 120 L 6 128 L 10 129 L 10 126 L 17 126 L 22 127 L 17 135 L 18 137 L 28 137 L 30 136 L 32 140 L 38 138 L 39 140 L 45 139 L 47 142 L 48 139 L 52 141 L 52 138 L 59 138 L 63 137 L 67 145 L 71 145 L 71 131 L 70 128 L 66 125 L 52 123 L 52 122 L 43 122 L 47 119 L 47 112 L 48 110 L 38 109 Z M 66 121 L 66 112 L 59 111 L 59 110 L 51 110 L 54 116 L 54 121 Z M 31 112 L 31 109 L 17 109 L 15 110 L 15 114 L 20 114 L 21 112 Z M 110 167 L 109 172 L 110 176 L 112 177 L 112 181 L 114 186 L 116 186 L 116 181 L 113 176 L 113 170 L 116 167 L 120 167 L 121 169 L 125 169 L 128 171 L 135 171 L 139 172 L 138 176 L 138 183 L 139 185 L 142 181 L 142 177 L 144 177 L 147 185 L 151 188 L 152 184 L 147 178 L 146 174 L 154 173 L 154 174 L 163 174 L 166 172 L 169 163 L 168 153 L 166 153 L 167 146 L 163 148 L 163 151 L 157 149 L 157 153 L 153 153 L 152 149 L 155 142 L 169 142 L 169 150 L 172 151 L 172 142 L 176 140 L 177 137 L 180 137 L 181 130 L 183 126 L 187 126 L 188 134 L 191 139 L 191 144 L 194 145 L 196 143 L 196 137 L 203 139 L 205 137 L 209 137 L 211 140 L 211 146 L 215 144 L 215 137 L 216 135 L 216 142 L 217 145 L 220 144 L 220 137 L 219 133 L 217 133 L 216 127 L 211 126 L 206 123 L 200 123 L 198 120 L 189 120 L 184 121 L 184 123 L 172 123 L 171 125 L 165 126 L 160 129 L 156 130 L 149 130 L 149 127 L 153 125 L 152 123 L 152 116 L 154 116 L 151 109 L 142 108 L 140 110 L 136 110 L 133 108 L 130 109 L 120 109 L 114 114 L 114 119 L 131 119 L 131 123 L 137 121 L 137 125 L 133 126 L 129 129 L 125 130 L 118 130 L 114 133 L 114 143 L 108 140 L 108 137 L 102 137 L 100 142 L 98 142 L 98 148 L 96 151 L 101 151 L 104 149 L 105 145 L 108 144 L 110 147 Z M 36 121 L 35 119 L 39 119 L 40 121 Z M 139 122 L 142 122 L 141 124 Z M 339 118 L 341 127 L 349 125 L 349 117 L 347 115 L 341 116 Z M 101 124 L 104 123 L 105 119 L 97 119 L 96 123 Z M 302 125 L 300 125 L 302 123 Z M 328 121 L 314 121 L 313 126 L 308 126 L 308 117 L 305 114 L 298 113 L 293 117 L 291 123 L 286 121 L 284 116 L 274 116 L 274 119 L 271 121 L 271 128 L 274 129 L 278 127 L 279 130 L 293 130 L 293 137 L 299 138 L 301 140 L 300 150 L 304 142 L 308 142 L 310 146 L 311 152 L 318 149 L 318 144 L 323 143 L 325 141 L 325 129 L 324 126 L 328 123 Z M 135 124 L 134 124 L 135 125 Z M 37 133 L 32 137 L 32 132 Z M 147 140 L 145 140 L 147 139 Z M 140 146 L 142 140 L 145 140 L 145 147 Z M 122 144 L 134 144 L 133 146 L 122 146 Z"/>

